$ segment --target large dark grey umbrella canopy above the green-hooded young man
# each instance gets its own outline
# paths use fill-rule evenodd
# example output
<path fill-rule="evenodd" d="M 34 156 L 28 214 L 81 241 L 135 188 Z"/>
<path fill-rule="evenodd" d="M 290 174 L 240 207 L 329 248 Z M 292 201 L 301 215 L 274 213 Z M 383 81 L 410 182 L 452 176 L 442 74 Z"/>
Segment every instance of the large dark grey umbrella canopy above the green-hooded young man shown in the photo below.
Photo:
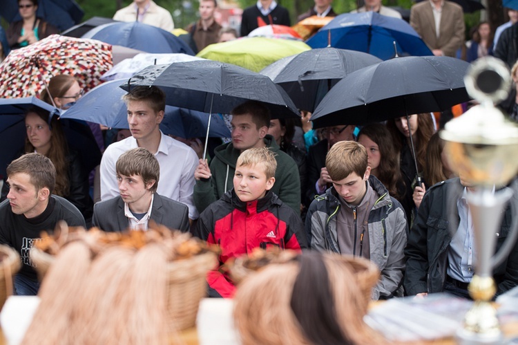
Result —
<path fill-rule="evenodd" d="M 266 75 L 209 60 L 144 68 L 121 87 L 158 86 L 166 104 L 204 113 L 228 114 L 247 100 L 264 102 L 272 118 L 299 118 L 287 93 Z"/>

